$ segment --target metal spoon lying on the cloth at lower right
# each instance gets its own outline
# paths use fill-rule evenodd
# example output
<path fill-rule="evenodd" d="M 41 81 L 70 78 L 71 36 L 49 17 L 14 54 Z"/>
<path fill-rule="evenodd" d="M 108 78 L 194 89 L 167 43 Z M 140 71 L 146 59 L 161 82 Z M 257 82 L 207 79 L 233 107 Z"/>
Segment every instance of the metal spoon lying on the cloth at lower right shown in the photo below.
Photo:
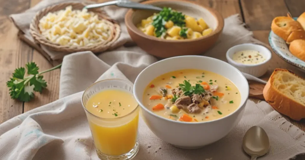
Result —
<path fill-rule="evenodd" d="M 251 160 L 265 155 L 270 147 L 269 138 L 265 130 L 259 126 L 251 127 L 242 140 L 242 148 L 251 156 Z"/>

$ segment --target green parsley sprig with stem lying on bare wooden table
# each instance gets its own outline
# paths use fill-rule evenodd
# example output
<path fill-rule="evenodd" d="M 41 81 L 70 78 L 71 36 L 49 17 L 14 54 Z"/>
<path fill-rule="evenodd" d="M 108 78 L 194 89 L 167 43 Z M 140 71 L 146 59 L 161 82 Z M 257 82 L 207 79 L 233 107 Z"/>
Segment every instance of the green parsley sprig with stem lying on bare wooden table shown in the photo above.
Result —
<path fill-rule="evenodd" d="M 47 87 L 47 82 L 43 79 L 42 73 L 52 71 L 61 67 L 61 64 L 43 72 L 38 72 L 39 67 L 35 62 L 29 62 L 25 65 L 26 67 L 20 67 L 15 69 L 13 78 L 10 78 L 6 82 L 9 87 L 9 94 L 12 99 L 18 99 L 20 101 L 30 101 L 34 97 L 34 91 L 42 92 Z M 27 69 L 27 71 L 26 71 Z M 27 73 L 27 77 L 25 74 Z"/>

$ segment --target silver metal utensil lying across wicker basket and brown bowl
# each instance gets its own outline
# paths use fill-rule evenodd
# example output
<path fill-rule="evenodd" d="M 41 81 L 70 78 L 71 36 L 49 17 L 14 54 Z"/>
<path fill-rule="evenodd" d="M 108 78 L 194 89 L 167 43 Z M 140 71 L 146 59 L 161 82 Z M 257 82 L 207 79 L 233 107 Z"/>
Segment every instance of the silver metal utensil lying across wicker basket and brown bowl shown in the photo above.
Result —
<path fill-rule="evenodd" d="M 85 9 L 91 9 L 91 8 L 99 8 L 99 7 L 104 7 L 107 5 L 116 5 L 118 7 L 124 7 L 124 8 L 132 8 L 132 9 L 149 9 L 149 10 L 157 10 L 157 11 L 162 11 L 162 8 L 156 7 L 153 5 L 145 5 L 137 2 L 131 2 L 128 0 L 116 0 L 116 1 L 110 1 L 110 2 L 105 2 L 105 3 L 99 3 L 99 4 L 91 4 L 87 5 L 84 8 Z"/>

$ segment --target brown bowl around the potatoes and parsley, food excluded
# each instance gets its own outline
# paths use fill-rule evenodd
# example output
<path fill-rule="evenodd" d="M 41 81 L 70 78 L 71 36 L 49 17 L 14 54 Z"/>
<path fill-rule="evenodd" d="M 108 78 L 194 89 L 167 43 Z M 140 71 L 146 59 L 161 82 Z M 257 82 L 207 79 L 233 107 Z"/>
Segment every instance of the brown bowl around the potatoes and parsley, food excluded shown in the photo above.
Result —
<path fill-rule="evenodd" d="M 208 26 L 213 29 L 211 34 L 197 39 L 165 40 L 146 35 L 136 27 L 141 20 L 152 16 L 153 13 L 158 11 L 130 9 L 125 15 L 125 24 L 132 40 L 145 52 L 160 58 L 179 55 L 201 55 L 215 44 L 224 27 L 224 19 L 219 12 L 195 2 L 183 0 L 150 0 L 143 2 L 143 4 L 170 7 L 197 19 L 202 17 Z"/>

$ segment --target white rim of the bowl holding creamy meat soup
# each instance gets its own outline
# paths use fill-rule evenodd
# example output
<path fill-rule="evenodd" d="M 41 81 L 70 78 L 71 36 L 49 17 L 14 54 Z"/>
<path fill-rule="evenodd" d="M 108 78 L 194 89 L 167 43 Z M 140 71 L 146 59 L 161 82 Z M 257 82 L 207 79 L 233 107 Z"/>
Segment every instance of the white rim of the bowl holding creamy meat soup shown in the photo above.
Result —
<path fill-rule="evenodd" d="M 148 67 L 146 67 L 145 69 L 143 69 L 139 74 L 138 74 L 138 76 L 137 76 L 137 78 L 135 79 L 135 83 L 134 83 L 134 88 L 133 88 L 133 91 L 134 91 L 134 96 L 135 96 L 135 99 L 136 99 L 136 101 L 138 102 L 138 105 L 140 105 L 140 107 L 142 108 L 142 109 L 144 109 L 146 112 L 148 112 L 149 114 L 151 114 L 152 116 L 155 116 L 156 118 L 159 118 L 159 119 L 161 119 L 161 120 L 165 120 L 165 121 L 169 121 L 169 122 L 173 122 L 173 123 L 180 123 L 180 124 L 188 124 L 188 125 L 199 125 L 199 124 L 204 124 L 204 123 L 213 123 L 213 122 L 216 122 L 216 121 L 221 121 L 222 119 L 226 119 L 226 118 L 228 118 L 228 117 L 230 117 L 230 116 L 232 116 L 233 114 L 235 114 L 237 111 L 239 111 L 240 109 L 242 109 L 243 108 L 243 106 L 246 106 L 246 103 L 247 103 L 247 100 L 248 100 L 248 98 L 249 98 L 249 84 L 248 84 L 248 81 L 247 81 L 247 79 L 246 79 L 246 77 L 242 74 L 242 72 L 241 71 L 239 71 L 235 66 L 232 66 L 231 64 L 229 64 L 229 63 L 227 63 L 228 65 L 231 65 L 233 68 L 233 70 L 235 71 L 235 72 L 237 72 L 239 75 L 241 75 L 242 77 L 243 77 L 243 80 L 245 80 L 246 81 L 246 84 L 248 85 L 248 87 L 246 87 L 246 99 L 242 102 L 241 101 L 241 105 L 239 105 L 239 107 L 237 108 L 237 109 L 235 109 L 235 111 L 234 112 L 231 112 L 230 114 L 228 114 L 227 116 L 224 116 L 224 117 L 221 117 L 221 118 L 219 118 L 219 119 L 214 119 L 214 120 L 210 120 L 210 121 L 203 121 L 203 122 L 196 122 L 196 123 L 190 123 L 190 122 L 182 122 L 182 121 L 175 121 L 175 120 L 172 120 L 172 119 L 167 119 L 167 118 L 164 118 L 164 117 L 162 117 L 162 116 L 159 116 L 159 115 L 157 115 L 157 114 L 154 114 L 152 111 L 150 111 L 148 108 L 146 108 L 143 104 L 142 104 L 142 101 L 140 101 L 139 99 L 138 99 L 138 97 L 136 96 L 136 92 L 137 92 L 137 90 L 136 90 L 136 88 L 137 88 L 137 82 L 139 81 L 139 75 L 141 75 L 142 73 L 144 73 L 150 66 L 152 66 L 152 65 L 157 65 L 158 63 L 161 63 L 161 62 L 163 62 L 163 61 L 167 61 L 167 60 L 169 60 L 169 59 L 177 59 L 177 58 L 183 58 L 183 57 L 194 57 L 194 58 L 202 58 L 202 57 L 204 57 L 204 58 L 207 58 L 207 59 L 213 59 L 213 60 L 216 60 L 216 61 L 218 61 L 218 62 L 220 62 L 220 63 L 226 63 L 226 62 L 224 62 L 224 61 L 222 61 L 222 60 L 220 60 L 220 59 L 216 59 L 216 58 L 212 58 L 212 57 L 207 57 L 207 56 L 201 56 L 201 55 L 183 55 L 183 56 L 176 56 L 176 57 L 171 57 L 171 58 L 167 58 L 167 59 L 163 59 L 163 60 L 160 60 L 160 61 L 158 61 L 158 62 L 155 62 L 155 63 L 153 63 L 153 64 L 151 64 L 151 65 L 149 65 Z M 218 74 L 218 73 L 217 73 Z M 221 75 L 221 76 L 223 76 L 223 75 Z M 224 76 L 225 77 L 225 76 Z M 227 77 L 225 77 L 225 78 L 227 78 Z M 139 83 L 139 82 L 138 82 Z M 234 84 L 234 83 L 233 83 Z M 235 84 L 234 84 L 235 85 Z"/>

